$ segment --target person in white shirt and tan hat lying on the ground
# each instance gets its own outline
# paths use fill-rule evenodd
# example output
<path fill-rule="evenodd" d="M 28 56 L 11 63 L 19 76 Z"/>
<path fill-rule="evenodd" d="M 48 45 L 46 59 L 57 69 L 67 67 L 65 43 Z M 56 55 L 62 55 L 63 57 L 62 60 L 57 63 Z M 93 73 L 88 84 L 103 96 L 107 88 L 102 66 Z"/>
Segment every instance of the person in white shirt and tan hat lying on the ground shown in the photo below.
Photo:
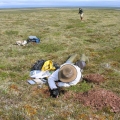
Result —
<path fill-rule="evenodd" d="M 48 78 L 51 96 L 57 98 L 60 94 L 59 87 L 70 87 L 81 81 L 82 70 L 86 66 L 87 57 L 83 54 L 81 60 L 72 63 L 64 63 Z"/>

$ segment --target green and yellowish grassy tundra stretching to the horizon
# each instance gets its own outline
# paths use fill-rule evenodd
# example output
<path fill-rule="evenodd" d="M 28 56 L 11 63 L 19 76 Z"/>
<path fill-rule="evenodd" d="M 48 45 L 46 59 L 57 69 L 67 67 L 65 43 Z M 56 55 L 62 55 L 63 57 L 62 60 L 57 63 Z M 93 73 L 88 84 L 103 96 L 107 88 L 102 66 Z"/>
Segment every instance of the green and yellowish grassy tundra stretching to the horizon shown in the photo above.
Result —
<path fill-rule="evenodd" d="M 40 44 L 15 45 L 29 35 Z M 119 113 L 96 111 L 80 103 L 50 98 L 48 87 L 29 85 L 31 66 L 40 59 L 62 64 L 72 53 L 89 56 L 83 74 L 100 73 L 99 87 L 120 96 L 120 11 L 84 9 L 0 10 L 0 120 L 118 120 Z M 81 82 L 68 91 L 84 92 L 96 85 Z"/>

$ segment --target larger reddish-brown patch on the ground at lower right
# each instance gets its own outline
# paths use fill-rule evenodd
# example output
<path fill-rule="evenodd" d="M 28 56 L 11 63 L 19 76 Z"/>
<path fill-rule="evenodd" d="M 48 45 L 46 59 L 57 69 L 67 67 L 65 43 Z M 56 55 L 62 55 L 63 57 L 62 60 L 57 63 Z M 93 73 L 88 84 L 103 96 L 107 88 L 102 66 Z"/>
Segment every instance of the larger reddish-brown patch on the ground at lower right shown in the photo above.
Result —
<path fill-rule="evenodd" d="M 120 112 L 120 97 L 105 89 L 93 89 L 83 94 L 71 94 L 68 92 L 64 95 L 64 99 L 70 98 L 83 103 L 85 106 L 91 106 L 97 110 L 110 108 L 111 112 Z"/>

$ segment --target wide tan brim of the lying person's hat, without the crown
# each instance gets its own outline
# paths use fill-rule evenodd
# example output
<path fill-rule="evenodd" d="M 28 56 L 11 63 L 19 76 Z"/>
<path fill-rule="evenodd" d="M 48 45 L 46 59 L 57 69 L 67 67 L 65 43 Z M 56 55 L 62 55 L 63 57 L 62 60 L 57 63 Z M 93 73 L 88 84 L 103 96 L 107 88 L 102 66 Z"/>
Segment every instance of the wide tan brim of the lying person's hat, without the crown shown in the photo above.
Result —
<path fill-rule="evenodd" d="M 67 78 L 67 79 L 66 79 L 66 78 L 63 78 L 63 77 L 62 77 L 62 73 L 61 73 L 61 71 L 62 71 L 63 69 L 65 69 L 66 67 L 69 67 L 69 68 L 73 71 L 72 77 Z M 59 73 L 58 73 L 58 78 L 59 78 L 59 80 L 60 80 L 61 82 L 72 82 L 73 80 L 76 79 L 76 77 L 77 77 L 77 70 L 76 70 L 76 68 L 75 68 L 73 65 L 71 65 L 71 64 L 65 64 L 65 65 L 63 65 L 63 66 L 60 68 Z"/>

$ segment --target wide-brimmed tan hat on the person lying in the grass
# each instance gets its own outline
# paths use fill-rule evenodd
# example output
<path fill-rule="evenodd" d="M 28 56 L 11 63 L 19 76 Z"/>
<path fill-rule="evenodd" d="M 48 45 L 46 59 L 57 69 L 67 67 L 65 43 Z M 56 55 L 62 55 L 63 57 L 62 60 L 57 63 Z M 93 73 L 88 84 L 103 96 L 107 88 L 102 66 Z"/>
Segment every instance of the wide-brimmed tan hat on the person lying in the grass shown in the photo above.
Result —
<path fill-rule="evenodd" d="M 58 73 L 58 78 L 61 82 L 72 82 L 77 77 L 77 70 L 71 64 L 63 65 Z"/>

